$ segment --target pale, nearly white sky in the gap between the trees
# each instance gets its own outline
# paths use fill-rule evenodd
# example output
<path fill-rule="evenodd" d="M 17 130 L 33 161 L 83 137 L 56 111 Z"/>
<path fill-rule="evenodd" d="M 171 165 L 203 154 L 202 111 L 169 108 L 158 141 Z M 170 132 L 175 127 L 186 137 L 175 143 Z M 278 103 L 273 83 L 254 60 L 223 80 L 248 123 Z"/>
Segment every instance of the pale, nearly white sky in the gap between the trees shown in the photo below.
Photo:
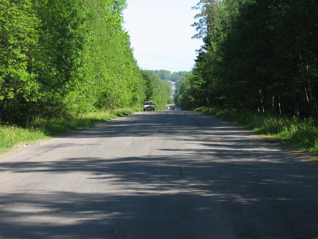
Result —
<path fill-rule="evenodd" d="M 126 0 L 124 28 L 139 67 L 147 70 L 190 71 L 201 39 L 190 26 L 199 0 Z"/>

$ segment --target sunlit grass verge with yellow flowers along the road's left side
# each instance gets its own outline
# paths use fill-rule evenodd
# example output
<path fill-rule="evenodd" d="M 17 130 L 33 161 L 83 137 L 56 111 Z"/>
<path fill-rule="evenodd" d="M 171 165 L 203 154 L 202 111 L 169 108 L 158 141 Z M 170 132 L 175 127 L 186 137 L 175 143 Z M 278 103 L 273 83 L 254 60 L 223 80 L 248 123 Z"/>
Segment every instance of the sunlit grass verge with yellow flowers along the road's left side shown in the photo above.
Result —
<path fill-rule="evenodd" d="M 50 138 L 54 135 L 85 129 L 103 121 L 112 120 L 137 112 L 138 108 L 116 109 L 105 112 L 80 114 L 67 119 L 38 120 L 28 127 L 0 126 L 0 153 L 14 145 Z"/>

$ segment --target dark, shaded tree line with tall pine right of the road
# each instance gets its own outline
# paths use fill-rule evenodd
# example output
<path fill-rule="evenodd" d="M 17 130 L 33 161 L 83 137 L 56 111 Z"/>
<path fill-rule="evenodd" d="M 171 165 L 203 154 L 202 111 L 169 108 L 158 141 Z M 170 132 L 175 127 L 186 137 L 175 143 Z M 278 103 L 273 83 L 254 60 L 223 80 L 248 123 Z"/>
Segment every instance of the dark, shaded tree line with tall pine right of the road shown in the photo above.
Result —
<path fill-rule="evenodd" d="M 317 1 L 201 0 L 193 8 L 204 45 L 176 104 L 318 120 Z"/>

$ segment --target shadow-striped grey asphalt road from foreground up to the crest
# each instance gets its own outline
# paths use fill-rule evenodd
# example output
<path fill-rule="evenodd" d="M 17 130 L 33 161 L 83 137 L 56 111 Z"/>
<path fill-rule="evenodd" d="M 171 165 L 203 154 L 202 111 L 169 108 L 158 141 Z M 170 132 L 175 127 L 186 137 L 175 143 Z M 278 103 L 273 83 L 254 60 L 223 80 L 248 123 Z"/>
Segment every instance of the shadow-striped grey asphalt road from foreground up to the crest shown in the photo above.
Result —
<path fill-rule="evenodd" d="M 196 112 L 138 112 L 0 171 L 0 238 L 318 238 L 317 164 Z"/>

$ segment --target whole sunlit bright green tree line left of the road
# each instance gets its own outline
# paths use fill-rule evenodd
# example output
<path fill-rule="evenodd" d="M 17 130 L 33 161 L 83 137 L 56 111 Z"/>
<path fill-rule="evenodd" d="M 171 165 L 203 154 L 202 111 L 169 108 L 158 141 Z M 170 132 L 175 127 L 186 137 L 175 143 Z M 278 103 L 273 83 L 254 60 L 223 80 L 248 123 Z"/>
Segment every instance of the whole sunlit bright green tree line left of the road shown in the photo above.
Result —
<path fill-rule="evenodd" d="M 167 104 L 123 29 L 125 0 L 2 0 L 0 123 Z"/>

